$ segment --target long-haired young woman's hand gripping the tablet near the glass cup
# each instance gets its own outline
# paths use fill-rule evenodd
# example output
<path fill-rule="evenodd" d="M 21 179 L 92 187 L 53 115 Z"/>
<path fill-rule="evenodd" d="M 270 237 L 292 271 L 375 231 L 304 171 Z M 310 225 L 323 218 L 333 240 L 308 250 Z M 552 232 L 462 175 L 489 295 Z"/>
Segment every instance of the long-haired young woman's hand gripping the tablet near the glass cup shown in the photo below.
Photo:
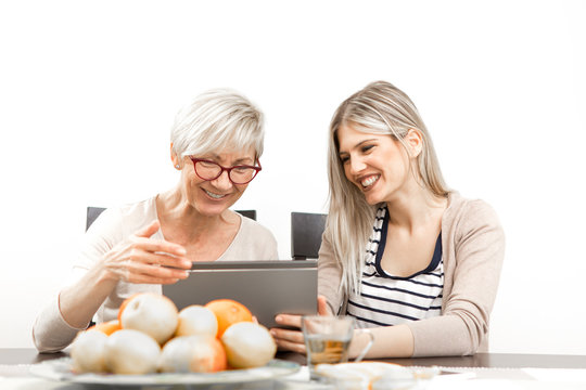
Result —
<path fill-rule="evenodd" d="M 319 315 L 331 315 L 328 311 L 328 302 L 326 297 L 318 296 L 318 314 Z M 277 346 L 280 349 L 305 353 L 305 342 L 303 339 L 303 333 L 301 332 L 301 315 L 293 314 L 279 314 L 275 317 L 277 324 L 293 327 L 295 329 L 283 329 L 283 328 L 271 328 L 270 334 L 277 342 Z"/>

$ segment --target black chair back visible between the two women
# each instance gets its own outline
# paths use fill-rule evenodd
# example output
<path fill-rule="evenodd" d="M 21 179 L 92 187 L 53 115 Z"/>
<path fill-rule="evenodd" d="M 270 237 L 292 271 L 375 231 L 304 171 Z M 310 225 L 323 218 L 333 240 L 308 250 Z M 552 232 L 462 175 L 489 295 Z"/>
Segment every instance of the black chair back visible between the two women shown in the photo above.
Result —
<path fill-rule="evenodd" d="M 327 214 L 291 212 L 291 258 L 317 259 Z"/>

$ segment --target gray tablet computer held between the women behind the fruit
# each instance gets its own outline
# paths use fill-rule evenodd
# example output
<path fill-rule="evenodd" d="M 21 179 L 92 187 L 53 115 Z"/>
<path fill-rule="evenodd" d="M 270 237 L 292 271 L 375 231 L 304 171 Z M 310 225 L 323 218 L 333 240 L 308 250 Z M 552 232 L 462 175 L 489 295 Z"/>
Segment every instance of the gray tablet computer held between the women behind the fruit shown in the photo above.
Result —
<path fill-rule="evenodd" d="M 317 314 L 317 260 L 193 262 L 190 276 L 163 285 L 163 294 L 179 310 L 233 299 L 271 328 L 279 313 Z"/>

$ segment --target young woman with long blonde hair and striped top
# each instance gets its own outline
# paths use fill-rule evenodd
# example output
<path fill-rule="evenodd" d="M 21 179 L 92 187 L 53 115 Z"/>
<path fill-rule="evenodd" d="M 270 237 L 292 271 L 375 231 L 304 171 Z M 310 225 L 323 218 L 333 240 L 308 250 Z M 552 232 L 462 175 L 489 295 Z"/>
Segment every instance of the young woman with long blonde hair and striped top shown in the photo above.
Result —
<path fill-rule="evenodd" d="M 330 210 L 319 252 L 319 311 L 370 328 L 367 358 L 485 350 L 505 251 L 493 209 L 447 188 L 419 113 L 384 81 L 333 116 Z M 282 325 L 300 317 L 281 314 Z M 304 352 L 298 332 L 272 329 Z M 357 335 L 356 355 L 368 341 Z"/>

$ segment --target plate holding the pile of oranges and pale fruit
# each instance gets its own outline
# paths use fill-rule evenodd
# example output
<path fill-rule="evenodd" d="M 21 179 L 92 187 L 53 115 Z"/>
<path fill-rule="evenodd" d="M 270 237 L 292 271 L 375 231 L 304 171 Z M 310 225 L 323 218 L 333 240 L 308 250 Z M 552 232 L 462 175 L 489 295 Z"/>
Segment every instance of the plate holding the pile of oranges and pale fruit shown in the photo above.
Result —
<path fill-rule="evenodd" d="M 218 373 L 199 374 L 146 374 L 146 375 L 115 375 L 115 374 L 74 374 L 72 359 L 61 358 L 41 362 L 30 367 L 34 376 L 84 385 L 117 385 L 117 386 L 157 386 L 157 385 L 214 385 L 242 384 L 273 379 L 284 375 L 295 374 L 300 365 L 278 359 L 271 360 L 266 366 L 249 369 L 231 369 Z"/>

